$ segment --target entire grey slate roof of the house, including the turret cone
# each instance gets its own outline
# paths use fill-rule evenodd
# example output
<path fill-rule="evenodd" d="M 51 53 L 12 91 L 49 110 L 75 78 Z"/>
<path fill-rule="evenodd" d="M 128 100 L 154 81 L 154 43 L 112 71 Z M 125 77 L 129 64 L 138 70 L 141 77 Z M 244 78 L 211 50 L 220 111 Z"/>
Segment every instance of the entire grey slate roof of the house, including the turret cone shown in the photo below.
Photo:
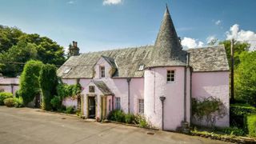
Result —
<path fill-rule="evenodd" d="M 190 66 L 194 71 L 229 70 L 224 46 L 182 50 L 180 39 L 166 7 L 158 38 L 154 46 L 141 46 L 120 50 L 106 50 L 70 57 L 57 71 L 62 78 L 93 78 L 94 65 L 99 58 L 115 69 L 113 78 L 143 77 L 145 68 L 154 66 L 186 66 L 186 55 L 190 54 Z M 64 73 L 69 71 L 68 73 Z"/>

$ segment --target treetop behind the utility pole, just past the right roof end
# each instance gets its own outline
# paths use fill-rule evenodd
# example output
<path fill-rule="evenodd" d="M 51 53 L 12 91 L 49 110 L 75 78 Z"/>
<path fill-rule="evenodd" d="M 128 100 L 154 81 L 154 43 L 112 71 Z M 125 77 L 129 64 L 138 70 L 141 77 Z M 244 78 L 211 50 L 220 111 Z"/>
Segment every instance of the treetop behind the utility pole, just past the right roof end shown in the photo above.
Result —
<path fill-rule="evenodd" d="M 229 66 L 230 66 L 230 64 L 231 64 L 231 62 L 230 62 L 231 42 L 229 40 L 226 40 L 223 42 L 219 42 L 219 44 L 223 44 L 225 46 L 226 56 L 227 56 L 227 60 L 229 62 Z M 235 42 L 234 43 L 234 68 L 236 68 L 238 66 L 238 64 L 240 63 L 239 55 L 244 51 L 249 51 L 249 48 L 250 48 L 250 44 L 247 42 Z"/>

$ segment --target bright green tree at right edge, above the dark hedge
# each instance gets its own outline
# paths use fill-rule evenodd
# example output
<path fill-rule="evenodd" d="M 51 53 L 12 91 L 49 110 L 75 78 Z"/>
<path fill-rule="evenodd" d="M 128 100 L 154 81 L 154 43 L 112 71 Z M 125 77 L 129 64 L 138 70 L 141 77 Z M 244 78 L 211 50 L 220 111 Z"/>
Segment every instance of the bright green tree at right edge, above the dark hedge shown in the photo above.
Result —
<path fill-rule="evenodd" d="M 235 96 L 256 106 L 256 51 L 243 52 L 234 75 Z"/>

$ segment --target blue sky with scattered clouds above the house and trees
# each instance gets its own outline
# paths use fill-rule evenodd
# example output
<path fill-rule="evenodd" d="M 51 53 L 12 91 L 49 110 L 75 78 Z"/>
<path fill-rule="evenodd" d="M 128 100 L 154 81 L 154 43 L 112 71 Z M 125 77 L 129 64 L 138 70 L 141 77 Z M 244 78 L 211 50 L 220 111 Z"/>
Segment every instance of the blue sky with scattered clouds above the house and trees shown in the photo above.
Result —
<path fill-rule="evenodd" d="M 255 0 L 0 0 L 0 25 L 64 47 L 74 40 L 81 52 L 152 45 L 166 3 L 185 47 L 211 38 L 256 42 Z"/>

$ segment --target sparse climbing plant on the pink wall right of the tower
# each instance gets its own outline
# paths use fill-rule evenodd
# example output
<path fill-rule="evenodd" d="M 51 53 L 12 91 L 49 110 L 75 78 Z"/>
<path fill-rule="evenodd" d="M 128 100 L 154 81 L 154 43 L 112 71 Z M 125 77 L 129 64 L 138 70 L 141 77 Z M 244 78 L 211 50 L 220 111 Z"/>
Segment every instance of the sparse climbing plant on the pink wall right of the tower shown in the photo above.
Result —
<path fill-rule="evenodd" d="M 214 126 L 218 118 L 226 115 L 226 107 L 219 98 L 192 98 L 192 115 L 198 121 L 205 120 L 208 126 Z"/>

